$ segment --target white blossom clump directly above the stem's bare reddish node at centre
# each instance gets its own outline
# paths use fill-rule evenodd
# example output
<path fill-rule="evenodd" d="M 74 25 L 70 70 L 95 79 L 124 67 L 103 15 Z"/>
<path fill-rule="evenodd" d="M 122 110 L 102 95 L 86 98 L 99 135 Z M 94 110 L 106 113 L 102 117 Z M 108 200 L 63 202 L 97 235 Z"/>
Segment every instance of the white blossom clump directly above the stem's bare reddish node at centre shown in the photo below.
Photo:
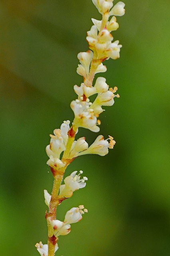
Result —
<path fill-rule="evenodd" d="M 96 126 L 97 118 L 94 115 L 94 111 L 89 108 L 90 102 L 73 100 L 70 106 L 74 112 L 74 124 L 77 127 L 84 127 L 92 132 L 98 132 L 100 130 L 100 128 Z"/>

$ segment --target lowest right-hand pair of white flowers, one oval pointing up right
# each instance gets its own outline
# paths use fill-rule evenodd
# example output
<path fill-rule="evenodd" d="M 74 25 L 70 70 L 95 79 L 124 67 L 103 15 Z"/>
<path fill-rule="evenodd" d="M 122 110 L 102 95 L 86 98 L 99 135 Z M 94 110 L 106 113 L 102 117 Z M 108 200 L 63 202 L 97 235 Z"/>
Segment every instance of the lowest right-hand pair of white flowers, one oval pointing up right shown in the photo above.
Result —
<path fill-rule="evenodd" d="M 82 220 L 82 214 L 84 212 L 88 212 L 87 209 L 84 209 L 83 205 L 80 205 L 78 207 L 71 208 L 68 212 L 66 212 L 64 221 L 60 220 L 53 220 L 52 218 L 49 218 L 49 221 L 51 223 L 51 226 L 53 228 L 54 236 L 65 236 L 70 233 L 70 224 L 79 222 Z"/>

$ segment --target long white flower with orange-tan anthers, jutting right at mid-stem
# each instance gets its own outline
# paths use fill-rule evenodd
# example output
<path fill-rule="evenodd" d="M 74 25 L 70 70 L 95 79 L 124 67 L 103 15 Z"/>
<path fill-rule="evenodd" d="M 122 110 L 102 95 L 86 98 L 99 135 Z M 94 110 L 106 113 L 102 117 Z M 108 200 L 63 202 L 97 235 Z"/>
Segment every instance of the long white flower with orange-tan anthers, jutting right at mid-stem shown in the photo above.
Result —
<path fill-rule="evenodd" d="M 110 143 L 108 142 L 110 140 Z M 93 144 L 83 152 L 80 152 L 78 155 L 85 155 L 85 154 L 98 154 L 100 156 L 105 156 L 108 154 L 108 148 L 113 148 L 116 142 L 113 140 L 111 136 L 107 140 L 104 140 L 102 135 L 99 135 Z"/>

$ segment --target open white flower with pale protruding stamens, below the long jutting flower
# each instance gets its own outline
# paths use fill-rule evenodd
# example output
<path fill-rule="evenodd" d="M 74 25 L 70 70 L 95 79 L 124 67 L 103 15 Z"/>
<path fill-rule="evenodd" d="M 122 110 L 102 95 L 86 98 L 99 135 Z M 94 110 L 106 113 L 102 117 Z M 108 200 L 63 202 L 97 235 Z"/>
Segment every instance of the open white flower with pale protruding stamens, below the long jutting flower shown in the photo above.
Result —
<path fill-rule="evenodd" d="M 86 186 L 86 180 L 88 180 L 88 178 L 83 177 L 82 179 L 80 179 L 80 174 L 82 174 L 83 172 L 80 171 L 78 175 L 76 175 L 77 171 L 72 172 L 70 174 L 70 176 L 66 177 L 64 179 L 64 183 L 63 185 L 60 186 L 60 196 L 61 197 L 66 197 L 69 198 L 72 196 L 73 192 L 80 189 L 80 188 L 84 188 Z"/>

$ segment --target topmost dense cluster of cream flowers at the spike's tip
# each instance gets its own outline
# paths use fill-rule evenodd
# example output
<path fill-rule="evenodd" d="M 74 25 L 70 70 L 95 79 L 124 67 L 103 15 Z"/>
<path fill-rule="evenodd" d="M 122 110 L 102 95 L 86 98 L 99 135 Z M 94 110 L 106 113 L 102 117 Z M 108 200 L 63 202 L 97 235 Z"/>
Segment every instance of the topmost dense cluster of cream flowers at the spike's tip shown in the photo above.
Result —
<path fill-rule="evenodd" d="M 103 15 L 108 16 L 122 16 L 125 13 L 123 2 L 118 2 L 113 6 L 113 0 L 93 0 L 94 5 L 98 8 L 99 12 Z M 111 9 L 112 8 L 112 9 Z M 111 10 L 110 10 L 111 9 Z M 116 60 L 120 57 L 120 48 L 122 47 L 119 44 L 119 41 L 116 40 L 112 42 L 113 36 L 110 32 L 117 30 L 119 24 L 116 22 L 116 17 L 113 16 L 110 21 L 106 23 L 106 26 L 102 26 L 101 20 L 92 19 L 93 26 L 90 31 L 87 32 L 87 41 L 89 48 L 93 51 L 96 51 L 98 58 L 105 60 L 107 58 L 112 58 Z"/>

